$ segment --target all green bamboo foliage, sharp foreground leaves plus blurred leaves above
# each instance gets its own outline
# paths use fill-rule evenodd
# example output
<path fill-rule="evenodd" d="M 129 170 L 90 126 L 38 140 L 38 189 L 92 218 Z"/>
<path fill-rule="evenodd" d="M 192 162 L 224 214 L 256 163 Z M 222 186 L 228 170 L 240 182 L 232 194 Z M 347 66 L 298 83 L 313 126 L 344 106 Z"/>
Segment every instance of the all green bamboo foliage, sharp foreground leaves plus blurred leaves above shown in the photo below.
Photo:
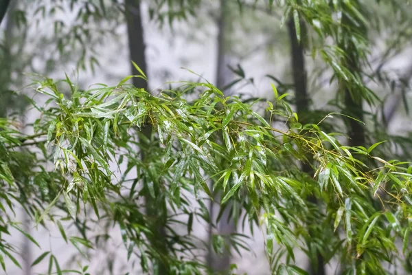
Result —
<path fill-rule="evenodd" d="M 187 19 L 188 14 L 196 16 L 200 2 L 150 1 L 149 16 L 160 24 L 172 24 Z M 89 43 L 95 35 L 93 22 L 110 22 L 115 28 L 119 22 L 114 11 L 124 12 L 117 1 L 50 3 L 34 3 L 39 8 L 33 18 L 54 22 L 56 60 L 80 46 L 80 67 L 86 66 L 88 54 L 93 53 L 94 44 Z M 241 8 L 247 6 L 244 1 L 237 3 Z M 331 83 L 336 80 L 354 98 L 371 105 L 378 101 L 364 78 L 388 81 L 380 78 L 379 71 L 376 75 L 367 72 L 368 32 L 378 31 L 380 22 L 367 20 L 371 10 L 366 2 L 260 3 L 284 11 L 282 22 L 293 17 L 299 41 L 309 42 L 312 57 L 319 56 L 332 70 Z M 398 9 L 396 1 L 390 3 Z M 386 4 L 374 3 L 374 8 Z M 73 25 L 58 19 L 59 10 L 76 14 Z M 400 19 L 404 20 L 402 12 Z M 307 35 L 301 20 L 309 26 Z M 98 37 L 103 33 L 98 30 Z M 353 56 L 363 65 L 356 71 L 350 66 Z M 94 60 L 90 58 L 91 67 L 97 63 Z M 244 80 L 242 67 L 235 70 L 240 76 L 235 81 Z M 170 274 L 202 274 L 209 270 L 199 248 L 207 249 L 207 244 L 194 232 L 194 222 L 217 222 L 210 219 L 207 202 L 212 191 L 220 191 L 218 219 L 230 208 L 242 228 L 250 227 L 253 232 L 254 225 L 260 226 L 274 274 L 306 274 L 295 263 L 297 250 L 313 263 L 317 251 L 325 264 L 339 260 L 343 274 L 387 274 L 391 266 L 402 264 L 408 269 L 411 265 L 412 166 L 385 160 L 388 155 L 409 159 L 410 149 L 401 137 L 391 137 L 387 144 L 345 146 L 339 142 L 345 135 L 336 133 L 336 121 L 347 116 L 317 111 L 311 120 L 299 120 L 286 94 L 293 85 L 275 77 L 279 92 L 273 86 L 274 100 L 267 102 L 264 114 L 255 111 L 255 102 L 225 98 L 208 82 L 170 83 L 179 87 L 151 95 L 127 85 L 132 77 L 147 79 L 141 72 L 115 87 L 97 85 L 87 90 L 69 78 L 35 80 L 36 93 L 48 100 L 44 106 L 32 100 L 41 113 L 41 118 L 27 125 L 34 133 L 25 135 L 16 121 L 0 120 L 0 234 L 10 234 L 10 228 L 15 228 L 40 246 L 10 214 L 19 203 L 36 224 L 56 223 L 62 239 L 84 258 L 116 234 L 108 230 L 92 236 L 91 228 L 115 225 L 131 274 L 137 270 L 159 274 L 163 268 Z M 150 138 L 143 134 L 148 125 L 153 129 Z M 393 145 L 401 146 L 402 153 L 388 154 L 387 148 Z M 301 171 L 301 162 L 312 165 L 314 175 Z M 213 190 L 209 190 L 209 181 L 214 182 Z M 312 196 L 317 204 L 311 202 Z M 153 199 L 150 206 L 144 203 L 147 197 Z M 62 221 L 73 224 L 78 232 L 68 232 Z M 214 236 L 211 241 L 217 253 L 230 243 L 242 254 L 248 249 L 245 238 L 231 234 Z M 17 253 L 13 243 L 0 243 L 3 270 L 9 268 L 5 258 L 20 266 Z M 49 273 L 65 272 L 58 255 L 45 248 L 33 265 L 47 259 Z M 72 272 L 86 274 L 87 267 Z"/>

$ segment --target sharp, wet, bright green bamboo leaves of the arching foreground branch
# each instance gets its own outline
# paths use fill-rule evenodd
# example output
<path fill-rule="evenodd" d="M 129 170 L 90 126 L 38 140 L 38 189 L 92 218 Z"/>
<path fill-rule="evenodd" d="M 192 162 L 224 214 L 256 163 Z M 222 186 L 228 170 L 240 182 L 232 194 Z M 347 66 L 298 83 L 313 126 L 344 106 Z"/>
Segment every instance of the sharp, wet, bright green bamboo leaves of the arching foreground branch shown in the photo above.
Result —
<path fill-rule="evenodd" d="M 266 121 L 249 104 L 236 97 L 224 98 L 210 83 L 182 83 L 180 89 L 151 96 L 126 85 L 129 78 L 115 87 L 101 85 L 87 91 L 66 79 L 69 98 L 51 79 L 36 82 L 36 91 L 47 95 L 47 104 L 52 106 L 37 107 L 43 116 L 33 124 L 34 135 L 23 135 L 5 121 L 5 131 L 0 132 L 1 194 L 9 208 L 14 208 L 11 201 L 16 199 L 37 223 L 71 217 L 73 223 L 91 228 L 96 221 L 89 215 L 108 220 L 122 229 L 130 261 L 140 261 L 144 272 L 156 270 L 161 263 L 172 274 L 198 274 L 206 267 L 198 259 L 192 225 L 195 218 L 211 222 L 207 180 L 214 179 L 214 189 L 224 194 L 222 208 L 231 201 L 232 215 L 244 214 L 238 223 L 258 223 L 266 231 L 274 272 L 304 274 L 294 265 L 294 249 L 312 256 L 312 248 L 319 247 L 328 261 L 339 256 L 347 272 L 373 274 L 384 273 L 383 261 L 399 261 L 399 239 L 404 239 L 403 253 L 409 253 L 412 166 L 375 157 L 373 150 L 379 144 L 343 146 L 336 133 L 325 133 L 319 124 L 299 124 L 281 96 L 268 102 L 271 115 Z M 193 89 L 200 94 L 187 102 L 185 93 Z M 286 120 L 288 129 L 273 128 L 271 121 L 276 118 Z M 143 136 L 137 141 L 133 134 L 145 124 L 155 129 L 150 146 L 142 146 Z M 30 153 L 33 150 L 27 148 L 32 145 L 40 151 Z M 136 148 L 146 154 L 144 162 Z M 379 166 L 370 169 L 354 155 L 364 155 L 371 166 Z M 313 178 L 297 166 L 298 160 L 308 161 L 305 156 L 314 159 Z M 47 170 L 47 162 L 56 169 Z M 111 167 L 122 163 L 127 168 L 115 175 Z M 133 169 L 137 174 L 129 178 Z M 140 200 L 144 195 L 156 199 L 157 219 L 166 221 L 169 254 L 150 245 L 160 239 L 160 221 L 144 211 Z M 314 207 L 308 201 L 310 195 L 323 207 Z M 45 202 L 49 206 L 42 209 Z M 94 214 L 84 212 L 88 206 Z M 60 211 L 55 212 L 56 208 Z M 181 232 L 181 223 L 186 221 L 187 228 Z M 308 221 L 317 221 L 310 226 L 317 236 L 310 239 Z M 12 217 L 3 216 L 1 234 L 8 234 L 14 225 Z M 82 253 L 96 241 L 87 230 L 82 237 L 67 236 L 62 230 L 62 237 Z M 240 237 L 231 236 L 239 252 L 244 247 Z M 275 242 L 281 245 L 277 252 L 272 251 Z M 221 245 L 225 242 L 216 239 L 217 251 Z M 3 257 L 14 252 L 6 243 L 1 251 Z M 283 263 L 279 262 L 282 254 L 288 255 Z M 38 261 L 46 256 L 42 254 Z M 361 256 L 365 261 L 359 260 Z M 58 272 L 57 259 L 49 257 Z"/>

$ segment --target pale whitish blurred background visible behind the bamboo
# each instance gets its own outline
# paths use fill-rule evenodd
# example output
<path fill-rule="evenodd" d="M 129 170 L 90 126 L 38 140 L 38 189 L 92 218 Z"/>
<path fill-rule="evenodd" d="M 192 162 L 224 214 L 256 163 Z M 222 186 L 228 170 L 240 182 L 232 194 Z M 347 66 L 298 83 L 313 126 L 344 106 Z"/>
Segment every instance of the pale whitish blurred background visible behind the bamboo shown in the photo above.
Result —
<path fill-rule="evenodd" d="M 8 1 L 0 1 L 4 2 Z M 32 74 L 56 79 L 63 79 L 67 74 L 81 89 L 95 83 L 116 85 L 132 74 L 130 60 L 146 72 L 148 90 L 153 94 L 170 85 L 176 86 L 169 82 L 179 80 L 208 80 L 228 96 L 242 98 L 271 100 L 271 83 L 279 93 L 295 93 L 293 56 L 299 49 L 293 47 L 295 33 L 290 33 L 288 19 L 282 19 L 284 10 L 269 9 L 263 0 L 176 1 L 176 6 L 168 1 L 161 8 L 158 2 L 10 1 L 1 22 L 0 116 L 19 115 L 23 125 L 41 115 L 36 109 L 27 108 L 29 100 L 25 96 L 34 96 L 33 91 L 27 89 Z M 376 16 L 369 19 L 373 27 L 368 30 L 371 50 L 367 72 L 378 75 L 378 81 L 369 81 L 367 75 L 364 81 L 380 98 L 374 105 L 363 103 L 366 140 L 369 144 L 371 140 L 391 140 L 391 150 L 387 150 L 411 161 L 412 22 L 403 14 L 394 16 L 390 5 L 364 2 L 370 2 L 371 13 Z M 400 5 L 405 14 L 412 12 L 409 1 L 402 1 Z M 310 43 L 310 47 L 316 47 L 317 41 L 312 39 Z M 319 121 L 325 113 L 340 112 L 344 107 L 336 84 L 330 83 L 331 69 L 319 56 L 312 56 L 310 47 L 301 49 L 305 66 L 301 69 L 307 76 L 308 108 L 313 119 Z M 138 80 L 134 84 L 146 85 Z M 44 103 L 41 98 L 36 100 L 38 104 Z M 296 103 L 293 96 L 288 96 L 288 100 Z M 265 104 L 263 101 L 257 108 L 264 109 L 261 107 Z M 345 124 L 334 126 L 334 131 L 345 132 Z M 60 265 L 65 268 L 77 265 L 80 261 L 77 250 L 62 240 L 56 225 L 50 224 L 49 230 L 36 229 L 26 221 L 23 210 L 17 215 L 38 243 L 49 246 L 58 256 Z M 96 234 L 102 230 L 107 228 L 103 225 L 95 228 Z M 118 228 L 111 230 L 119 231 Z M 216 230 L 234 232 L 236 228 L 229 221 Z M 249 230 L 238 228 L 238 231 L 250 236 L 250 252 L 242 252 L 240 258 L 233 251 L 231 256 L 211 260 L 212 264 L 236 263 L 238 274 L 270 274 L 260 232 L 255 230 L 251 236 Z M 208 241 L 205 225 L 196 224 L 194 232 Z M 126 252 L 118 249 L 122 246 L 121 235 L 111 235 L 117 236 L 111 245 L 93 252 L 89 262 L 91 274 L 127 272 Z M 30 267 L 41 250 L 19 232 L 12 236 L 16 243 L 21 243 L 26 264 L 23 271 L 9 270 L 8 274 L 46 272 L 46 261 Z M 299 267 L 305 268 L 307 262 L 303 254 L 297 254 Z M 326 269 L 334 274 L 336 265 Z"/>

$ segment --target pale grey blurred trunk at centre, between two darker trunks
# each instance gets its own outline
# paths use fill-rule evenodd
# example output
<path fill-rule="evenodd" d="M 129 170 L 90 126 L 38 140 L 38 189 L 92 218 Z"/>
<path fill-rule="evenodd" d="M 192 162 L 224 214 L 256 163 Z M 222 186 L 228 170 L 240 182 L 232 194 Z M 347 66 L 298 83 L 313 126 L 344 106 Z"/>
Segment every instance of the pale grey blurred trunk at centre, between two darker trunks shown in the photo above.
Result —
<path fill-rule="evenodd" d="M 220 90 L 227 84 L 227 79 L 229 78 L 229 70 L 227 69 L 229 63 L 229 57 L 227 56 L 226 48 L 227 43 L 225 43 L 226 36 L 226 23 L 227 23 L 227 1 L 220 0 L 220 14 L 217 21 L 218 28 L 218 38 L 217 38 L 217 60 L 216 60 L 216 87 Z M 225 92 L 225 91 L 223 91 Z M 211 186 L 212 187 L 212 186 Z M 220 194 L 214 195 L 214 201 L 220 201 Z M 207 255 L 207 263 L 212 271 L 222 272 L 227 271 L 230 268 L 231 257 L 230 257 L 230 246 L 225 250 L 222 256 L 216 255 L 212 247 L 212 236 L 213 236 L 213 223 L 217 218 L 216 210 L 218 208 L 214 206 L 214 201 L 211 201 L 209 206 L 211 224 L 209 225 L 209 252 Z M 236 232 L 235 221 L 230 217 L 231 206 L 228 205 L 220 221 L 216 224 L 217 234 L 223 236 L 229 236 L 231 233 Z"/>

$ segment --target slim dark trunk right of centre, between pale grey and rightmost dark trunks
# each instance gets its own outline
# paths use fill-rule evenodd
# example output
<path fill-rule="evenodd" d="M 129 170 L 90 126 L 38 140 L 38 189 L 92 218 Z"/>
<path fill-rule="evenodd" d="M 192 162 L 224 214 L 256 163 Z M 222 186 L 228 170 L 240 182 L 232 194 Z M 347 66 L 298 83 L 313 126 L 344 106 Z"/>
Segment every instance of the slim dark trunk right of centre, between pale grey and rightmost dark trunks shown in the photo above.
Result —
<path fill-rule="evenodd" d="M 304 34 L 305 25 L 304 21 L 300 22 L 301 32 Z M 293 83 L 295 85 L 295 98 L 296 98 L 296 109 L 299 122 L 301 124 L 308 123 L 308 112 L 309 112 L 309 103 L 310 98 L 308 95 L 308 89 L 306 87 L 306 65 L 305 65 L 305 56 L 304 56 L 304 45 L 302 41 L 297 40 L 295 21 L 290 17 L 288 20 L 288 34 L 290 39 L 290 55 L 292 57 L 292 75 Z M 304 38 L 304 35 L 301 35 L 301 38 Z M 301 163 L 301 169 L 308 175 L 313 174 L 313 169 L 310 166 L 310 163 L 303 162 Z M 312 195 L 308 198 L 310 203 L 317 204 L 317 199 Z M 316 225 L 316 221 L 308 221 L 308 226 L 312 227 Z M 310 232 L 311 230 L 309 230 Z M 312 233 L 311 235 L 315 235 Z M 314 275 L 324 275 L 325 267 L 323 256 L 320 254 L 319 250 L 316 250 L 315 259 L 310 260 L 311 274 Z"/>

